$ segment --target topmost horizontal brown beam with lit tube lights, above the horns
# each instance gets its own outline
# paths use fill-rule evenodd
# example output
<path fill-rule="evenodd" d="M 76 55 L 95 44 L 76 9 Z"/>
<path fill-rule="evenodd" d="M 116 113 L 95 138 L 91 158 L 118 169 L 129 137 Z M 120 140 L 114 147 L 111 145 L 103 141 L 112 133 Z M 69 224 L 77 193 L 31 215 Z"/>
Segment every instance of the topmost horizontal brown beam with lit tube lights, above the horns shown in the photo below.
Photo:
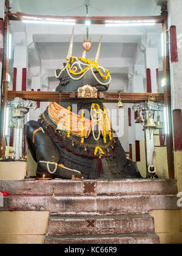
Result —
<path fill-rule="evenodd" d="M 31 15 L 27 13 L 8 13 L 9 19 L 13 21 L 32 20 L 32 18 L 49 18 L 61 20 L 75 20 L 76 24 L 84 24 L 85 20 L 91 20 L 92 24 L 105 24 L 106 20 L 152 20 L 155 23 L 163 23 L 164 16 L 53 16 L 53 15 Z M 30 17 L 30 18 L 24 18 Z"/>

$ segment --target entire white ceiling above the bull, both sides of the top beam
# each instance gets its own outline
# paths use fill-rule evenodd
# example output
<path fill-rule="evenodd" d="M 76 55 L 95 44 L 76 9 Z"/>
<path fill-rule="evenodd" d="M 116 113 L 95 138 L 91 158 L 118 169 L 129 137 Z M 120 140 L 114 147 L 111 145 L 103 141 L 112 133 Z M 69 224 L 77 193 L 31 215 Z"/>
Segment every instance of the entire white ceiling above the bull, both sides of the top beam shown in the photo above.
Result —
<path fill-rule="evenodd" d="M 160 0 L 161 1 L 161 0 Z M 163 0 L 162 0 L 163 1 Z M 158 0 L 10 0 L 12 12 L 24 12 L 39 15 L 78 15 L 86 14 L 86 2 L 89 2 L 90 16 L 146 16 L 160 15 L 161 7 Z M 11 21 L 12 32 L 24 32 L 27 37 L 33 37 L 34 44 L 29 46 L 29 66 L 41 66 L 50 80 L 55 80 L 54 69 L 60 68 L 65 62 L 69 48 L 72 26 L 45 26 L 40 24 L 22 24 Z M 109 68 L 113 80 L 127 79 L 129 69 L 135 63 L 136 51 L 141 37 L 147 33 L 161 34 L 161 25 L 153 27 L 106 27 L 91 25 L 89 34 L 92 37 L 93 48 L 87 53 L 87 59 L 94 59 L 100 35 L 103 35 L 99 65 Z M 73 55 L 80 56 L 83 52 L 82 42 L 86 34 L 86 26 L 75 26 Z M 161 44 L 158 44 L 160 55 Z M 138 62 L 144 65 L 144 55 Z M 13 70 L 13 63 L 10 63 Z M 11 71 L 10 71 L 11 73 Z M 118 78 L 117 78 L 118 77 Z"/>

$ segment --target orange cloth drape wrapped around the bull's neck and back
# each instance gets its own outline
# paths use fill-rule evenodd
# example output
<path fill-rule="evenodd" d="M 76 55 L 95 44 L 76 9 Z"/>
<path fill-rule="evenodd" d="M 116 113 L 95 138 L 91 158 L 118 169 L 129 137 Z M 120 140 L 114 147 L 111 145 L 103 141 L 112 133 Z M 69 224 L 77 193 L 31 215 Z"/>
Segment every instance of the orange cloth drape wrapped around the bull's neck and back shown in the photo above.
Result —
<path fill-rule="evenodd" d="M 49 112 L 50 118 L 54 123 L 58 124 L 59 120 L 61 119 L 61 124 L 63 129 L 67 130 L 67 123 L 68 123 L 68 116 L 69 116 L 69 110 L 67 110 L 67 108 L 60 106 L 56 102 L 52 102 L 49 104 L 48 112 Z M 79 137 L 81 137 L 81 123 L 82 123 L 81 119 L 82 119 L 81 116 L 73 112 L 70 113 L 70 132 Z M 109 124 L 110 124 L 109 125 L 110 127 L 109 127 L 107 124 L 107 119 L 105 115 L 104 115 L 104 123 L 106 126 L 106 135 L 107 135 L 110 132 L 111 123 L 109 118 Z M 85 138 L 89 137 L 93 124 L 98 124 L 99 128 L 101 129 L 101 132 L 104 135 L 103 118 L 100 118 L 98 122 L 84 118 L 84 137 Z"/>

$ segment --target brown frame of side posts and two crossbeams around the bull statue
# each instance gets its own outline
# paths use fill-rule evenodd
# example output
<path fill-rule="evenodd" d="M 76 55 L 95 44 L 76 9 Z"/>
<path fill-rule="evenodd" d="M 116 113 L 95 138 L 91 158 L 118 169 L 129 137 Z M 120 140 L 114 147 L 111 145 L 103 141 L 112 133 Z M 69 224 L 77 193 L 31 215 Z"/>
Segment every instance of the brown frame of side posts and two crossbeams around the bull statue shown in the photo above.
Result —
<path fill-rule="evenodd" d="M 13 21 L 20 21 L 22 20 L 22 16 L 30 16 L 30 20 L 33 17 L 39 17 L 39 18 L 61 18 L 61 19 L 74 19 L 76 21 L 76 24 L 84 24 L 85 20 L 91 20 L 92 24 L 105 24 L 105 20 L 155 20 L 155 23 L 161 23 L 163 24 L 163 32 L 168 33 L 168 25 L 167 25 L 167 2 L 164 3 L 163 8 L 161 10 L 161 15 L 160 16 L 120 16 L 120 17 L 112 17 L 112 16 L 42 16 L 42 15 L 29 15 L 26 13 L 10 13 L 9 12 L 10 7 L 8 4 L 8 0 L 6 1 L 6 15 L 5 15 L 5 23 L 6 23 L 6 32 L 5 34 L 8 35 L 8 20 L 13 20 Z M 168 35 L 168 34 L 167 34 Z M 167 37 L 166 37 L 167 38 Z M 4 38 L 5 40 L 5 38 Z M 172 113 L 171 113 L 171 104 L 170 104 L 170 74 L 169 74 L 169 44 L 167 44 L 167 40 L 165 42 L 166 44 L 166 49 L 167 49 L 167 56 L 163 58 L 163 77 L 167 79 L 167 86 L 164 88 L 164 107 L 167 108 L 167 113 L 168 113 L 168 121 L 169 121 L 169 134 L 166 135 L 166 144 L 167 144 L 167 162 L 168 162 L 168 169 L 169 169 L 169 177 L 174 178 L 175 177 L 175 171 L 174 171 L 174 153 L 173 153 L 173 136 L 172 136 Z M 32 100 L 37 100 L 39 101 L 53 101 L 53 99 L 57 99 L 59 95 L 55 93 L 40 93 L 39 92 L 39 97 L 33 92 L 8 92 L 7 88 L 7 82 L 6 82 L 6 73 L 8 73 L 8 60 L 5 58 L 4 54 L 4 74 L 3 74 L 3 96 L 1 99 L 1 104 L 2 104 L 2 110 L 1 110 L 1 147 L 5 145 L 5 137 L 4 137 L 4 118 L 5 118 L 5 107 L 7 104 L 7 98 L 13 98 L 13 97 L 22 97 L 25 99 L 32 99 Z M 101 94 L 100 94 L 101 95 Z M 122 97 L 126 97 L 126 101 L 123 100 L 123 102 L 132 102 L 135 103 L 137 101 L 142 101 L 141 97 L 143 97 L 143 101 L 146 101 L 146 94 L 145 96 L 139 94 L 138 96 L 136 94 L 130 93 L 131 98 L 127 101 L 127 96 L 128 94 L 122 95 Z M 41 97 L 41 98 L 40 98 Z M 163 98 L 163 96 L 161 96 Z M 70 97 L 70 95 L 67 95 L 67 98 L 69 100 L 74 100 L 76 99 L 76 95 L 73 97 Z M 112 95 L 109 96 L 109 93 L 104 93 L 103 97 L 99 96 L 99 99 L 101 101 L 105 102 L 116 102 L 116 94 L 115 96 Z M 64 98 L 62 98 L 62 101 Z M 159 100 L 159 99 L 158 99 Z M 80 101 L 80 99 L 79 99 Z M 163 101 L 163 100 L 162 100 Z M 0 149 L 1 149 L 0 147 Z M 0 156 L 2 157 L 4 155 L 4 148 L 0 152 Z"/>

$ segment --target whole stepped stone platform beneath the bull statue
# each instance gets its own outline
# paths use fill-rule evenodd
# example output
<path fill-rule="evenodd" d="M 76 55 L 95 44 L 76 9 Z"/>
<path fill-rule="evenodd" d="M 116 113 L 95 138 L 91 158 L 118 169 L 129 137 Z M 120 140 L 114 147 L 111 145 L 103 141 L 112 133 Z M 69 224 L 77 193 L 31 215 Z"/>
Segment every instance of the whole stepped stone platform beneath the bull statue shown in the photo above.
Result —
<path fill-rule="evenodd" d="M 48 211 L 45 243 L 159 243 L 151 210 L 179 210 L 176 180 L 0 181 L 1 211 Z"/>

